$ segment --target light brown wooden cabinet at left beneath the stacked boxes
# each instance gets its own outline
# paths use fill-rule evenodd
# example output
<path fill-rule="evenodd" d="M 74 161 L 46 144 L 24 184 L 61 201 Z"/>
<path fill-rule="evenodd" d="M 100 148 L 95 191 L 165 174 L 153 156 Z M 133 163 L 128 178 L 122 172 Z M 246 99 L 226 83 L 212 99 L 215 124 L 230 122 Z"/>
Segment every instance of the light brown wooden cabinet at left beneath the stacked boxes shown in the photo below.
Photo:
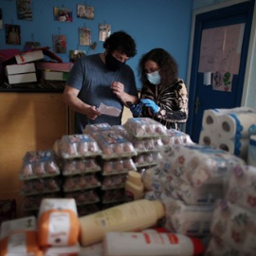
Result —
<path fill-rule="evenodd" d="M 51 149 L 69 132 L 68 108 L 62 93 L 0 93 L 0 200 L 22 196 L 18 179 L 27 151 Z"/>

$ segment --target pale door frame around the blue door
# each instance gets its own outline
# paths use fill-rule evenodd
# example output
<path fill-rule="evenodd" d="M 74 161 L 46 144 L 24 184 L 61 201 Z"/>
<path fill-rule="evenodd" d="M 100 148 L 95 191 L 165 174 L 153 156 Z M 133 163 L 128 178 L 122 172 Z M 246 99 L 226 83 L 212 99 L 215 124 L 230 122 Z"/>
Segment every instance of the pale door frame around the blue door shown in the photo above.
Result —
<path fill-rule="evenodd" d="M 190 52 L 189 52 L 189 60 L 188 60 L 187 82 L 186 82 L 189 94 L 195 93 L 195 88 L 191 88 L 190 82 L 191 82 L 191 76 L 192 76 L 192 54 L 193 54 L 193 47 L 194 47 L 193 42 L 194 42 L 194 29 L 195 29 L 196 16 L 198 14 L 209 12 L 211 10 L 223 9 L 223 8 L 231 7 L 233 5 L 245 3 L 248 1 L 249 0 L 231 0 L 231 1 L 228 1 L 225 3 L 212 5 L 210 7 L 206 7 L 206 8 L 202 8 L 202 9 L 194 9 L 192 11 L 191 41 L 190 41 Z M 254 61 L 254 63 L 256 61 L 255 59 L 253 59 L 253 58 L 255 58 L 253 51 L 256 46 L 255 30 L 256 30 L 256 4 L 254 5 L 253 18 L 252 18 L 252 24 L 251 24 L 251 30 L 250 30 L 250 39 L 249 39 L 249 46 L 248 46 L 248 52 L 247 52 L 247 66 L 246 66 L 246 72 L 245 72 L 245 80 L 244 80 L 244 84 L 243 84 L 243 94 L 242 94 L 241 106 L 248 106 L 247 105 L 248 88 L 250 86 L 256 87 L 255 85 L 249 83 L 251 81 L 250 78 L 254 76 L 252 74 L 251 66 L 253 64 L 253 61 Z M 256 93 L 256 88 L 254 89 L 254 91 Z M 251 89 L 250 89 L 250 93 L 251 93 Z M 189 115 L 190 114 L 193 115 L 193 110 L 190 110 Z"/>

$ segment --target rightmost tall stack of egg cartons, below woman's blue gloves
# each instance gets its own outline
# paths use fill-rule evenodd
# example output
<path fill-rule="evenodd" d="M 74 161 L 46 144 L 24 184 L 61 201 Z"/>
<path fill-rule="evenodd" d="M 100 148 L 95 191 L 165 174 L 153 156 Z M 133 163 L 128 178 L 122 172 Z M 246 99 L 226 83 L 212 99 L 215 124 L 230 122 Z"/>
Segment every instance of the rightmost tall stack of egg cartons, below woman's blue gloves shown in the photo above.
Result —
<path fill-rule="evenodd" d="M 162 138 L 168 135 L 166 127 L 154 119 L 136 118 L 128 119 L 122 130 L 137 151 L 134 161 L 138 172 L 155 166 L 161 157 L 159 151 L 164 146 Z"/>

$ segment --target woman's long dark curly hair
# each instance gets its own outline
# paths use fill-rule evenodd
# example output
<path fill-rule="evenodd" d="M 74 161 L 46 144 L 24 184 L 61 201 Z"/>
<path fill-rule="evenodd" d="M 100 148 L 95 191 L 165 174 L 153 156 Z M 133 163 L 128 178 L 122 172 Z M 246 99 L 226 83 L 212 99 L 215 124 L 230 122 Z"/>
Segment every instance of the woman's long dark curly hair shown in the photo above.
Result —
<path fill-rule="evenodd" d="M 174 57 L 163 48 L 154 48 L 144 54 L 138 64 L 138 74 L 140 76 L 142 86 L 151 84 L 147 79 L 146 71 L 144 69 L 147 61 L 153 61 L 158 64 L 159 74 L 161 76 L 161 86 L 170 86 L 170 84 L 173 84 L 177 79 L 178 65 L 174 60 Z"/>

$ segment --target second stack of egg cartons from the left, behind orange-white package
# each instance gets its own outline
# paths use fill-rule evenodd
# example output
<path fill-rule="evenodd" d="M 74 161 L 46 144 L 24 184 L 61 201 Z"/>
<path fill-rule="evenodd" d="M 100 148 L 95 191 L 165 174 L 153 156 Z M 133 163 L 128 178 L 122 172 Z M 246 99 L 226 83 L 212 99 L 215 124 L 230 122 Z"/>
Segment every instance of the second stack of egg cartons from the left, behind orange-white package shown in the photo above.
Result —
<path fill-rule="evenodd" d="M 80 216 L 100 210 L 101 166 L 96 157 L 101 149 L 97 141 L 89 135 L 64 135 L 53 148 L 61 161 L 63 196 L 75 199 Z"/>

